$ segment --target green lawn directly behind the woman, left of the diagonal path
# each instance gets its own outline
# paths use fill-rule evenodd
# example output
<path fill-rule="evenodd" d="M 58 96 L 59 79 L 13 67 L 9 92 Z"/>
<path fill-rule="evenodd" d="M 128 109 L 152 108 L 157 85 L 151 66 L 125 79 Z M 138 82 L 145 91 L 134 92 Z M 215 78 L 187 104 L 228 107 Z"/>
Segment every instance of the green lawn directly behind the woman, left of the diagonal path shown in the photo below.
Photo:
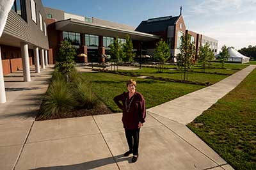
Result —
<path fill-rule="evenodd" d="M 113 98 L 127 91 L 126 81 L 129 79 L 136 79 L 136 89 L 144 96 L 147 109 L 205 87 L 194 84 L 139 79 L 102 72 L 83 73 L 83 76 L 92 81 L 93 92 L 113 112 L 121 112 Z"/>

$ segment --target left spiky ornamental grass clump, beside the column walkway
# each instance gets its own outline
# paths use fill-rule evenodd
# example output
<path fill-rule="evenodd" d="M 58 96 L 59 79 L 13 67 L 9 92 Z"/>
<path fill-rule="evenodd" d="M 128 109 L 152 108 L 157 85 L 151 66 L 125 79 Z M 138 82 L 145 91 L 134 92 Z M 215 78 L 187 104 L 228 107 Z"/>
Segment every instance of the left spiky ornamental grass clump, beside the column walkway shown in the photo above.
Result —
<path fill-rule="evenodd" d="M 60 118 L 75 105 L 74 96 L 67 81 L 62 76 L 55 77 L 45 95 L 40 108 L 40 118 Z"/>

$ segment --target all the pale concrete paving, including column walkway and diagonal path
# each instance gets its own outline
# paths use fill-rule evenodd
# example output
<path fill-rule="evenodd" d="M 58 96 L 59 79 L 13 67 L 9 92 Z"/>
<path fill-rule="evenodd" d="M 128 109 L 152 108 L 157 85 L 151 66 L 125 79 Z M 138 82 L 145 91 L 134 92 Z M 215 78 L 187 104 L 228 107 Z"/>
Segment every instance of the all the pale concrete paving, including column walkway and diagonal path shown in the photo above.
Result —
<path fill-rule="evenodd" d="M 253 68 L 184 96 L 187 102 L 177 109 L 183 111 L 179 116 L 170 106 L 176 103 L 148 109 L 135 164 L 131 157 L 123 157 L 127 143 L 121 113 L 34 122 L 40 105 L 36 97 L 45 93 L 50 71 L 16 85 L 19 74 L 4 77 L 10 90 L 9 101 L 0 105 L 0 169 L 232 169 L 184 124 L 236 87 Z M 205 98 L 198 98 L 198 93 Z M 202 100 L 199 109 L 191 106 L 195 100 Z M 177 99 L 176 105 L 179 101 L 185 100 Z"/>

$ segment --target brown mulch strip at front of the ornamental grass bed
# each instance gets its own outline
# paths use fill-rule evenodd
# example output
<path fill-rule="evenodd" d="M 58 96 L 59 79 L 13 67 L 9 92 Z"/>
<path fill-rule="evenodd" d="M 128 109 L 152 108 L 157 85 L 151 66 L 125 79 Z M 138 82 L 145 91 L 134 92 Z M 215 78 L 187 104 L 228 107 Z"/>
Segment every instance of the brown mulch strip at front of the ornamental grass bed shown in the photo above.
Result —
<path fill-rule="evenodd" d="M 102 102 L 93 109 L 72 109 L 68 112 L 61 112 L 56 116 L 51 116 L 47 118 L 40 118 L 40 115 L 36 116 L 36 121 L 41 120 L 55 120 L 55 119 L 62 119 L 62 118 L 76 118 L 82 116 L 93 116 L 93 115 L 100 115 L 100 114 L 112 114 L 113 112 L 106 107 Z"/>

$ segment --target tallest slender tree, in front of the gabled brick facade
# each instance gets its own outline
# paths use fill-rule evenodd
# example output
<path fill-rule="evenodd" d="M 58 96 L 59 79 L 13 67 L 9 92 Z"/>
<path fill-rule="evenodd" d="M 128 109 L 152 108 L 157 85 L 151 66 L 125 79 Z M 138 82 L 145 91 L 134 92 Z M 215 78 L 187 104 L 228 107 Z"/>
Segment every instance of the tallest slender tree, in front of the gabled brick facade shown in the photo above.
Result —
<path fill-rule="evenodd" d="M 191 42 L 191 35 L 181 36 L 180 53 L 177 54 L 177 65 L 184 72 L 184 81 L 188 80 L 188 70 L 192 66 L 195 56 L 195 44 Z"/>

